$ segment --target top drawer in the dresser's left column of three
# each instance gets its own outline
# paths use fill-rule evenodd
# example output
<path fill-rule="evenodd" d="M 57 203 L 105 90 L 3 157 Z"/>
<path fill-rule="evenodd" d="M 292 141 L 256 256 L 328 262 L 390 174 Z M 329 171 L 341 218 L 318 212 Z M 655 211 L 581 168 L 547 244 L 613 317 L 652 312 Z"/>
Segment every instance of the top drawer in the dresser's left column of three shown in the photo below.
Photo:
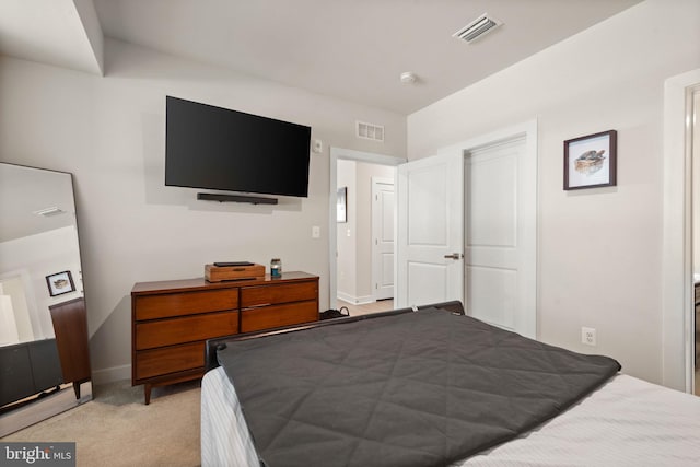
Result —
<path fill-rule="evenodd" d="M 238 307 L 238 289 L 136 296 L 137 320 L 221 312 Z"/>

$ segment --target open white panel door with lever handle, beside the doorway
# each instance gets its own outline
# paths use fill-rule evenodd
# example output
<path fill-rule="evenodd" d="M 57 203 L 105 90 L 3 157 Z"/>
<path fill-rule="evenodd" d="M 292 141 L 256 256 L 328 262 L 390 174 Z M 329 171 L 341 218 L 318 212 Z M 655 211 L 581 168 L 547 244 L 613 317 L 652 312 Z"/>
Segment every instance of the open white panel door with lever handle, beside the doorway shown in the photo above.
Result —
<path fill-rule="evenodd" d="M 398 166 L 395 307 L 463 300 L 464 155 Z"/>

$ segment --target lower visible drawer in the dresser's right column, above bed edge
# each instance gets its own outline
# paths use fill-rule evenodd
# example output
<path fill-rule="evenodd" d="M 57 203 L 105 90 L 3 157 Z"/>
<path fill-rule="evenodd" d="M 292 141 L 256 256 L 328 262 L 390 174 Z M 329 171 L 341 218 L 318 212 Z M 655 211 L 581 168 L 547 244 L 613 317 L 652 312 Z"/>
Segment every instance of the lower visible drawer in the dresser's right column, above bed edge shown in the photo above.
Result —
<path fill-rule="evenodd" d="M 317 302 L 260 306 L 241 312 L 241 332 L 318 320 Z"/>

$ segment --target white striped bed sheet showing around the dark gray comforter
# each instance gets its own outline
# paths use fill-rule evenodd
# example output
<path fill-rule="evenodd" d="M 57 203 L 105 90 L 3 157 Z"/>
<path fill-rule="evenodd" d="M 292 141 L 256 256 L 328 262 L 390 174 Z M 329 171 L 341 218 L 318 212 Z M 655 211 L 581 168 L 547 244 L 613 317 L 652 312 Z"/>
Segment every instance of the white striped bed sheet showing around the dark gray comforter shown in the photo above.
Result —
<path fill-rule="evenodd" d="M 258 465 L 221 367 L 202 380 L 201 462 Z M 700 397 L 619 374 L 538 429 L 454 466 L 700 466 Z"/>

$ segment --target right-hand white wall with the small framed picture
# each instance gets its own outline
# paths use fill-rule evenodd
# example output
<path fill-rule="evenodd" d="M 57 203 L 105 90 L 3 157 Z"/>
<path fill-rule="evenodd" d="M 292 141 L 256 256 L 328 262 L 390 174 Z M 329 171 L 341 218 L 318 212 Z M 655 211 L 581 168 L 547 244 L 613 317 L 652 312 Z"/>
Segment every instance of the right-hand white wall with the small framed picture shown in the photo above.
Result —
<path fill-rule="evenodd" d="M 609 354 L 652 382 L 662 380 L 664 80 L 698 67 L 700 2 L 649 0 L 408 117 L 411 160 L 537 117 L 538 337 Z M 617 187 L 563 191 L 563 141 L 609 129 Z M 581 345 L 582 326 L 597 329 L 596 348 Z"/>

